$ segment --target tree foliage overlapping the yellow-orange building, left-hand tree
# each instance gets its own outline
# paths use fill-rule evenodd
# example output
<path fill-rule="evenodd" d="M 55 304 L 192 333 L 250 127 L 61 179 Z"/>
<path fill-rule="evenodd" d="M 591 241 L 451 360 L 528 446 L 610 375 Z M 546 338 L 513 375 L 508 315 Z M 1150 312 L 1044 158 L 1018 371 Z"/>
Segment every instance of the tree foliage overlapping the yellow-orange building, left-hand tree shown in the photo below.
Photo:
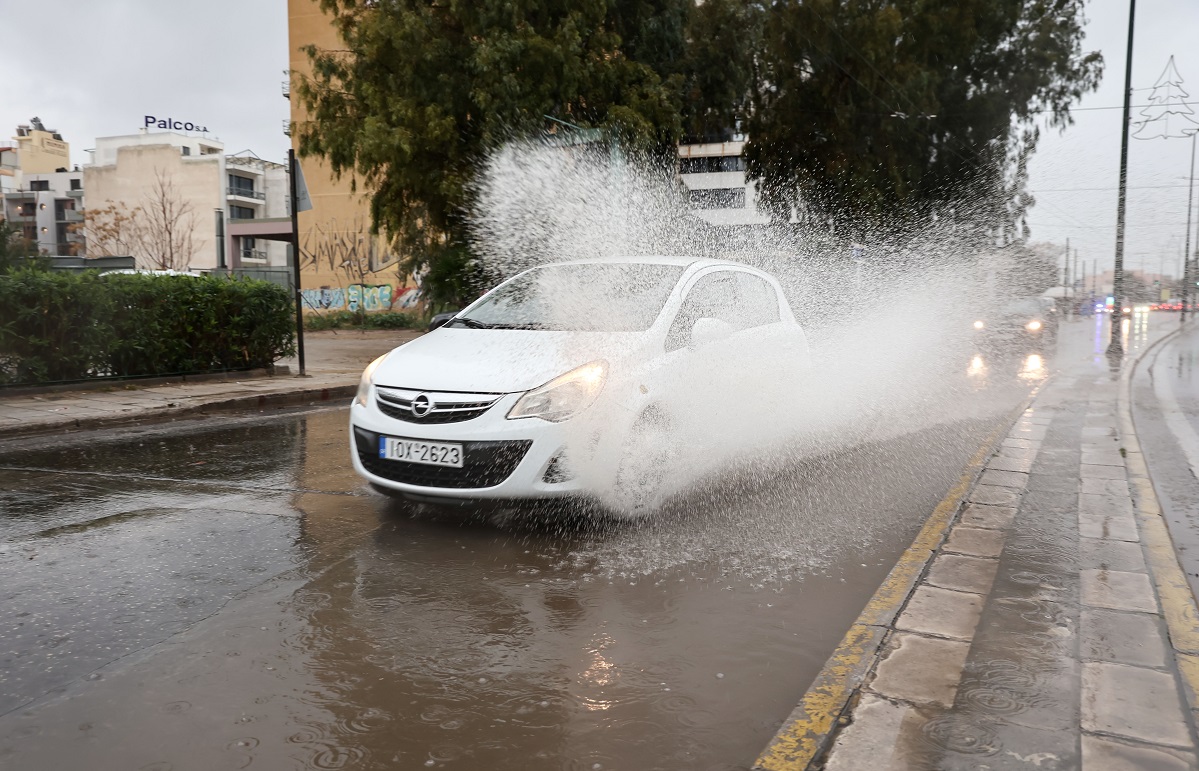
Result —
<path fill-rule="evenodd" d="M 465 217 L 483 155 L 560 125 L 649 151 L 681 133 L 677 62 L 691 0 L 321 0 L 344 50 L 309 47 L 302 155 L 370 193 L 373 225 L 430 272 L 435 303 L 470 290 Z M 445 263 L 446 265 L 441 265 Z M 452 267 L 452 270 L 446 270 Z M 442 281 L 445 278 L 446 281 Z"/>

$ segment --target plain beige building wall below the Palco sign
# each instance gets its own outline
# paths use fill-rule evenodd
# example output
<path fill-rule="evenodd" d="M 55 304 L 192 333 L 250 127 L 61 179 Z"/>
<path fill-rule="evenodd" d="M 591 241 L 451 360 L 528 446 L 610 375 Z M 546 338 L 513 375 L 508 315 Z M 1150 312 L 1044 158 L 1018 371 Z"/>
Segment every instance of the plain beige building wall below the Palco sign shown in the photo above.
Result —
<path fill-rule="evenodd" d="M 83 188 L 88 197 L 88 209 L 102 209 L 109 204 L 129 207 L 145 205 L 153 195 L 157 175 L 162 173 L 175 187 L 177 197 L 192 207 L 195 252 L 187 267 L 216 267 L 213 211 L 225 206 L 221 159 L 219 155 L 183 157 L 179 147 L 170 145 L 121 147 L 118 150 L 115 165 L 84 167 Z M 157 266 L 139 264 L 138 267 Z"/>

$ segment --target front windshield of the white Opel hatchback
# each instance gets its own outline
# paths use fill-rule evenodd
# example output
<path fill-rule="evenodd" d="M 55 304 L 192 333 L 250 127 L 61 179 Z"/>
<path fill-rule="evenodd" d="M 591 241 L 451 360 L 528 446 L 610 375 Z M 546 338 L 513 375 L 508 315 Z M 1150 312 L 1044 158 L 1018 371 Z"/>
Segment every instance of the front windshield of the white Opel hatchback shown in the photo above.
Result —
<path fill-rule="evenodd" d="M 472 329 L 634 332 L 650 327 L 679 283 L 679 265 L 546 265 L 488 293 L 451 321 Z"/>

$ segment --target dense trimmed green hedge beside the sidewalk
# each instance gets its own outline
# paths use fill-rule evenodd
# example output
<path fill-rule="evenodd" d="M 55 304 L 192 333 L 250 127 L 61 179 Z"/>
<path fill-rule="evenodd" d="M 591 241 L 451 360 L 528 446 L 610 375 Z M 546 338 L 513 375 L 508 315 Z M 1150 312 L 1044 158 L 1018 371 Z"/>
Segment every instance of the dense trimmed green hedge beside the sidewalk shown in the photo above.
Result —
<path fill-rule="evenodd" d="M 291 294 L 269 282 L 0 275 L 0 385 L 249 369 L 294 353 Z"/>

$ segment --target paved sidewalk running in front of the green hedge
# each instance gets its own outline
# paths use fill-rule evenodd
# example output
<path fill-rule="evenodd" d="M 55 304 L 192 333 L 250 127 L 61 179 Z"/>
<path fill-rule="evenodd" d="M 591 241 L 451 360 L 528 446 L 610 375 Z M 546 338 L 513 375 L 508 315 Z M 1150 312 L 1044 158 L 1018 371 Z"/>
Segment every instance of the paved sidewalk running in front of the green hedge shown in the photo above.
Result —
<path fill-rule="evenodd" d="M 108 426 L 173 420 L 199 412 L 261 410 L 277 406 L 348 400 L 363 367 L 417 332 L 338 331 L 305 336 L 307 377 L 295 373 L 295 359 L 281 365 L 289 374 L 222 379 L 125 381 L 100 388 L 6 394 L 0 391 L 0 441 L 17 436 L 67 433 Z"/>

